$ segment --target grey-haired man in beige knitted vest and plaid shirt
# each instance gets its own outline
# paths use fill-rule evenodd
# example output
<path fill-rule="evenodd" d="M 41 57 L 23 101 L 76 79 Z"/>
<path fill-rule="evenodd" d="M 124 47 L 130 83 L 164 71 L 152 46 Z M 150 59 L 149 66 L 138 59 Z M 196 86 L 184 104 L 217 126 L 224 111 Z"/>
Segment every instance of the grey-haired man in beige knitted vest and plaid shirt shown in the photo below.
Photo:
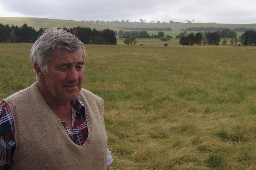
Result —
<path fill-rule="evenodd" d="M 109 169 L 104 102 L 82 88 L 83 43 L 50 28 L 30 58 L 37 82 L 0 104 L 0 169 Z"/>

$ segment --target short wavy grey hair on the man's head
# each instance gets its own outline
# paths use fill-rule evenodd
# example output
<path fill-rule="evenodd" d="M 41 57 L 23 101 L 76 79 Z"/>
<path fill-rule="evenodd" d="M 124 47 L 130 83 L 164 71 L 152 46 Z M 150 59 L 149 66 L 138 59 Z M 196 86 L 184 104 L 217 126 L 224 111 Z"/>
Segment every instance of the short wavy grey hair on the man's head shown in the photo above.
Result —
<path fill-rule="evenodd" d="M 63 29 L 49 28 L 34 43 L 30 52 L 30 59 L 33 65 L 37 63 L 42 73 L 48 73 L 48 61 L 52 58 L 52 52 L 56 48 L 71 52 L 76 52 L 82 48 L 84 53 L 83 60 L 85 60 L 83 43 L 76 36 Z M 40 81 L 37 74 L 36 79 Z"/>

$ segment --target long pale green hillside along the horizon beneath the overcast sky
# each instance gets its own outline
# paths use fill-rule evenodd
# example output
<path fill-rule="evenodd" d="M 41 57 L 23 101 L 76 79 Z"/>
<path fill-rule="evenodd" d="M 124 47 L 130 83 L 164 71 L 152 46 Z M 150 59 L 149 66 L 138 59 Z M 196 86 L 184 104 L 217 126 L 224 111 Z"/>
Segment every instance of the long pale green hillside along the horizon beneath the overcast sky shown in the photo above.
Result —
<path fill-rule="evenodd" d="M 125 22 L 125 23 L 114 23 L 114 22 L 104 22 L 99 24 L 85 23 L 80 21 L 72 20 L 56 20 L 56 19 L 46 19 L 46 18 L 11 18 L 11 17 L 0 17 L 0 24 L 9 24 L 14 26 L 22 26 L 26 23 L 28 26 L 34 27 L 35 29 L 39 28 L 51 28 L 51 27 L 60 27 L 60 28 L 73 28 L 73 27 L 89 27 L 95 28 L 97 30 L 103 30 L 104 28 L 109 28 L 112 30 L 119 31 L 120 28 L 167 28 L 171 27 L 172 31 L 181 31 L 183 28 L 190 27 L 213 27 L 213 28 L 253 28 L 256 29 L 256 24 L 215 24 L 215 23 L 134 23 L 134 22 Z"/>

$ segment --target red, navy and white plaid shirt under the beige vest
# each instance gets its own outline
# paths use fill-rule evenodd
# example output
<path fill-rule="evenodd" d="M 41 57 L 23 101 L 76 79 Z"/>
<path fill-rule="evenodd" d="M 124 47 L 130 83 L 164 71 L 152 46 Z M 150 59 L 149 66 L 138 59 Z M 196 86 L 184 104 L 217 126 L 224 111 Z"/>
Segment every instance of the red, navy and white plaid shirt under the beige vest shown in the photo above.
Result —
<path fill-rule="evenodd" d="M 60 121 L 70 139 L 77 145 L 83 145 L 88 137 L 88 130 L 85 118 L 85 107 L 78 98 L 72 101 L 71 117 L 73 133 L 64 121 Z M 10 107 L 5 102 L 0 103 L 0 129 L 0 169 L 3 170 L 10 167 L 12 163 L 12 155 L 16 147 L 13 117 Z M 112 158 L 110 154 L 111 152 L 108 150 L 108 157 Z M 108 165 L 110 163 L 112 163 L 112 160 L 111 162 L 108 161 Z"/>

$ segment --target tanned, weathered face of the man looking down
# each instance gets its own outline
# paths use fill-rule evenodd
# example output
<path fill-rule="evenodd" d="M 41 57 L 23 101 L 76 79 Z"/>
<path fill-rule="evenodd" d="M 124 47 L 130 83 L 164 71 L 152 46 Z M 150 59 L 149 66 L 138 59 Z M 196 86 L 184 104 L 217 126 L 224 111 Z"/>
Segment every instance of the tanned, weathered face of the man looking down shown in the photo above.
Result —
<path fill-rule="evenodd" d="M 76 99 L 83 85 L 83 66 L 82 48 L 77 52 L 54 49 L 48 62 L 49 72 L 40 77 L 42 95 L 60 103 Z"/>

